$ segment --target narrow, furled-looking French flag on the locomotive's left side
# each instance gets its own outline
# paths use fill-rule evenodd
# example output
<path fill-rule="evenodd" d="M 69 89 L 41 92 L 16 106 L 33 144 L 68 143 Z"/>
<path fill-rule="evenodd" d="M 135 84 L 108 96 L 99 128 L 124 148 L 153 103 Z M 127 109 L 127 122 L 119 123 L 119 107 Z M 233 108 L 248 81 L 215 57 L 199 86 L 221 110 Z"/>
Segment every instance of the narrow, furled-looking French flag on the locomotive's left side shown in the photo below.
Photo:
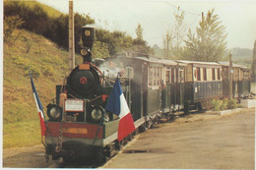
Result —
<path fill-rule="evenodd" d="M 30 72 L 30 76 L 31 76 L 31 82 L 32 82 L 32 74 Z M 33 82 L 32 82 L 32 94 L 33 94 L 33 97 L 34 97 L 34 100 L 35 100 L 35 105 L 37 107 L 37 111 L 38 111 L 38 115 L 39 115 L 39 119 L 40 119 L 40 127 L 41 127 L 41 137 L 45 136 L 45 130 L 46 130 L 46 127 L 45 127 L 45 116 L 44 116 L 44 113 L 42 111 L 42 105 L 41 105 L 41 102 L 38 98 L 38 95 L 37 95 L 37 92 L 36 92 L 36 89 L 33 85 Z"/>

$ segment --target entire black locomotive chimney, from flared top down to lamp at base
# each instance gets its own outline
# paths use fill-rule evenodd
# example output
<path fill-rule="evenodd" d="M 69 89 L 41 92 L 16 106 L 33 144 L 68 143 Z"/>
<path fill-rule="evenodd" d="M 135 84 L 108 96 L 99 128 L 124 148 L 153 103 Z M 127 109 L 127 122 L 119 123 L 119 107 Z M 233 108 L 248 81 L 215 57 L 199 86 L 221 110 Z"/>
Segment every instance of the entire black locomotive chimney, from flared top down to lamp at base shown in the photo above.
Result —
<path fill-rule="evenodd" d="M 94 46 L 95 37 L 96 28 L 86 26 L 82 28 L 83 47 L 81 49 L 81 55 L 83 56 L 84 62 L 92 62 L 92 49 Z"/>

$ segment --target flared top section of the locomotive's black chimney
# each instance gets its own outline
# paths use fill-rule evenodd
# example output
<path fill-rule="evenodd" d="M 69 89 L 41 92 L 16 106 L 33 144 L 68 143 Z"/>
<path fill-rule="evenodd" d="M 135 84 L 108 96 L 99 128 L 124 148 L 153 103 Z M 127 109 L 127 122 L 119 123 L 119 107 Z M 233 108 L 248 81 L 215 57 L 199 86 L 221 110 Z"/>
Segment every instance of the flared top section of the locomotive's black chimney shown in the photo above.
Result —
<path fill-rule="evenodd" d="M 95 38 L 96 38 L 96 28 L 86 27 L 86 26 L 82 28 L 82 41 L 83 41 L 84 47 L 87 47 L 90 50 L 92 50 L 94 46 Z"/>

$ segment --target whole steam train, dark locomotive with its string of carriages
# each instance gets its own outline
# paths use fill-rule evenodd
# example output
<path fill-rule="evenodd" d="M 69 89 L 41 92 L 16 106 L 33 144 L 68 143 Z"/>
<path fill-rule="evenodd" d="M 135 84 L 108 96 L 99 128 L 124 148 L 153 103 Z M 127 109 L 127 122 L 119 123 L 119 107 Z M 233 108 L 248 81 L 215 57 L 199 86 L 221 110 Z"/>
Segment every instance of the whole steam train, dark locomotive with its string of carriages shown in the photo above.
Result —
<path fill-rule="evenodd" d="M 56 98 L 47 105 L 47 159 L 62 157 L 70 162 L 94 157 L 102 162 L 134 135 L 173 112 L 203 110 L 212 99 L 228 96 L 225 63 L 173 61 L 135 52 L 93 59 L 95 33 L 95 28 L 82 28 L 83 63 L 70 72 L 63 85 L 56 85 Z M 238 65 L 235 69 L 233 97 L 246 97 L 250 70 Z M 105 109 L 117 75 L 135 125 L 135 131 L 120 142 L 120 119 Z"/>

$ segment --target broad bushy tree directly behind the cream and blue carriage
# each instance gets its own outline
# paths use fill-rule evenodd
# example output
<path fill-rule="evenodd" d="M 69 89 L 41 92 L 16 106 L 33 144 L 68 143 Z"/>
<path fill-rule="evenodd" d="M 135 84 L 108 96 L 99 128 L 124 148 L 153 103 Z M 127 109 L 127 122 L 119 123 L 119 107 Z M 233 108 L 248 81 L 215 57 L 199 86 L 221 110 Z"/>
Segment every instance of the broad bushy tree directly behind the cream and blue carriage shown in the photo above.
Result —
<path fill-rule="evenodd" d="M 208 11 L 206 17 L 202 15 L 196 35 L 189 29 L 183 59 L 216 62 L 224 57 L 227 34 L 219 21 L 220 17 L 214 15 L 214 11 Z"/>

